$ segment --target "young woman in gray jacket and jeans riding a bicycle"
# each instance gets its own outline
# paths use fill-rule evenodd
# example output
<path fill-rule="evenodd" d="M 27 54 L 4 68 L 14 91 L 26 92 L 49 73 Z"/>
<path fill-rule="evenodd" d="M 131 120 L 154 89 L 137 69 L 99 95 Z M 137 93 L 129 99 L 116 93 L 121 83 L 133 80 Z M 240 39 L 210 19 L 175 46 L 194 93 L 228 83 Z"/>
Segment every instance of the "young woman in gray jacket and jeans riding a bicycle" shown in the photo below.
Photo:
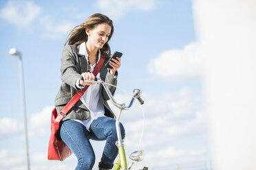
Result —
<path fill-rule="evenodd" d="M 107 16 L 92 14 L 84 23 L 74 27 L 63 49 L 61 58 L 63 83 L 55 99 L 57 112 L 61 112 L 77 90 L 89 85 L 81 99 L 63 118 L 59 131 L 63 141 L 78 159 L 76 169 L 87 170 L 94 166 L 95 154 L 89 139 L 106 140 L 98 165 L 99 169 L 111 169 L 118 154 L 118 148 L 115 145 L 117 141 L 116 121 L 106 102 L 109 97 L 100 84 L 84 81 L 95 79 L 92 71 L 100 57 L 109 58 L 110 47 L 107 42 L 113 32 L 112 21 Z M 120 58 L 110 62 L 113 69 L 107 69 L 104 65 L 105 63 L 96 77 L 116 85 L 117 70 L 121 65 Z M 116 88 L 109 86 L 109 90 L 114 95 Z M 122 138 L 124 138 L 125 130 L 122 124 L 120 124 L 120 129 Z"/>

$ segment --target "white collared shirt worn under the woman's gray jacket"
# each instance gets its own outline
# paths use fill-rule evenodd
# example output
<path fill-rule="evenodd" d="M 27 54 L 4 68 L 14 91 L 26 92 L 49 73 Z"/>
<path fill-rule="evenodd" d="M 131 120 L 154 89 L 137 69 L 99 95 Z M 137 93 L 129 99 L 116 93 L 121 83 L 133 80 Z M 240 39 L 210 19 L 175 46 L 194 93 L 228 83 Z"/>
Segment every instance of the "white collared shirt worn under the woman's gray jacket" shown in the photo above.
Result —
<path fill-rule="evenodd" d="M 86 60 L 88 61 L 88 53 L 85 47 L 85 42 L 83 42 L 80 45 L 79 53 L 83 56 L 85 56 Z M 100 60 L 100 50 L 98 50 L 98 61 Z M 97 62 L 98 63 L 98 62 Z M 87 62 L 88 64 L 88 62 Z M 94 71 L 96 66 L 96 63 L 92 66 L 91 65 L 91 71 Z M 100 73 L 96 77 L 100 77 Z M 78 88 L 83 88 L 83 86 L 79 86 L 79 80 L 76 80 L 76 86 Z M 78 120 L 78 119 L 72 119 L 74 121 L 78 121 L 85 125 L 86 129 L 89 131 L 89 126 L 92 124 L 92 121 L 95 119 L 98 119 L 98 117 L 104 117 L 105 109 L 103 106 L 103 101 L 100 100 L 100 94 L 99 94 L 100 84 L 93 84 L 90 85 L 87 90 L 85 91 L 85 94 L 80 98 L 80 100 L 85 104 L 85 106 L 89 109 L 89 112 L 91 116 L 87 120 Z"/>

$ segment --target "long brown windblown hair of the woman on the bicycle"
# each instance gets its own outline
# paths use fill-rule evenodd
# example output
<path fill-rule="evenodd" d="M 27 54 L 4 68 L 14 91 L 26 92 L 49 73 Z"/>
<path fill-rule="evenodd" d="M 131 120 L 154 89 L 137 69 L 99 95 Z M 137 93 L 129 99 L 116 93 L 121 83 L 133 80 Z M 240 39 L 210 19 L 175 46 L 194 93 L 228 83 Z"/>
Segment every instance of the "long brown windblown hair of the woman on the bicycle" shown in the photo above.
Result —
<path fill-rule="evenodd" d="M 88 36 L 85 33 L 85 29 L 94 29 L 97 25 L 101 23 L 107 23 L 111 27 L 111 32 L 109 34 L 108 40 L 103 45 L 103 48 L 100 49 L 100 53 L 103 54 L 105 57 L 109 57 L 111 54 L 110 47 L 109 47 L 109 40 L 114 32 L 114 26 L 113 22 L 109 17 L 97 13 L 97 14 L 92 14 L 87 18 L 87 20 L 84 23 L 81 23 L 81 25 L 77 25 L 72 29 L 70 34 L 67 36 L 67 41 L 65 42 L 65 45 L 80 45 L 82 42 L 87 42 Z"/>

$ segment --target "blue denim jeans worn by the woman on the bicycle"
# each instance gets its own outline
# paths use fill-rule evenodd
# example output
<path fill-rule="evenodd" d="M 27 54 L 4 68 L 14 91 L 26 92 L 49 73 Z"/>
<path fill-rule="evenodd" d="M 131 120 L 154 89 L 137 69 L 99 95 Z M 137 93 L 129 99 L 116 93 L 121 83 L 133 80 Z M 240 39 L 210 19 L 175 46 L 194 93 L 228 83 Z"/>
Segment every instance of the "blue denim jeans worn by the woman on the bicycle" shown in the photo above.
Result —
<path fill-rule="evenodd" d="M 125 138 L 125 129 L 121 123 L 120 130 L 122 138 Z M 99 117 L 92 122 L 89 132 L 84 125 L 77 121 L 63 121 L 60 134 L 62 140 L 70 147 L 78 159 L 76 170 L 89 170 L 94 167 L 95 154 L 89 139 L 95 141 L 107 140 L 98 167 L 105 169 L 113 167 L 114 160 L 118 155 L 115 119 Z"/>

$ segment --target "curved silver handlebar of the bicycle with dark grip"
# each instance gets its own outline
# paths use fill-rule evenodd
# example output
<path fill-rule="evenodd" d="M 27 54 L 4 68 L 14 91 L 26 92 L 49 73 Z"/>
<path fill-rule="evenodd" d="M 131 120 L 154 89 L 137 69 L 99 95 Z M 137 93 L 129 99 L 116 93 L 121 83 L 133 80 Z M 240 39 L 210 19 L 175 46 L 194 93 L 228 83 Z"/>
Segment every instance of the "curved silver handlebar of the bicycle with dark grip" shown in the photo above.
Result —
<path fill-rule="evenodd" d="M 82 78 L 81 78 L 82 80 Z M 144 104 L 144 101 L 141 99 L 140 95 L 141 95 L 141 90 L 140 89 L 134 89 L 134 97 L 132 97 L 129 106 L 125 106 L 125 104 L 118 104 L 111 91 L 109 90 L 109 88 L 107 87 L 107 84 L 105 84 L 105 82 L 103 80 L 101 80 L 100 78 L 95 78 L 95 80 L 84 80 L 85 82 L 93 82 L 96 84 L 102 84 L 103 87 L 105 88 L 107 95 L 109 96 L 110 101 L 112 102 L 112 104 L 114 104 L 114 106 L 121 108 L 122 110 L 129 110 L 129 108 L 131 108 L 132 104 L 134 104 L 134 99 L 138 99 L 140 104 Z"/>

